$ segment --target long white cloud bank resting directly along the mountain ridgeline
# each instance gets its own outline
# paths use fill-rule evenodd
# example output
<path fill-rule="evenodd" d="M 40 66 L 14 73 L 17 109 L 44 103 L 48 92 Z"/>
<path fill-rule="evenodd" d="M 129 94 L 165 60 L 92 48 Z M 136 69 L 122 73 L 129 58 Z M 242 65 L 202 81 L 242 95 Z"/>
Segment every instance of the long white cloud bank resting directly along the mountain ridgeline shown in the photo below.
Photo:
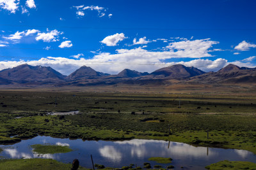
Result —
<path fill-rule="evenodd" d="M 127 62 L 124 62 L 123 59 L 115 61 L 114 59 L 120 58 L 122 55 L 118 55 L 118 57 L 108 57 L 108 53 L 101 54 L 106 56 L 106 59 L 94 58 L 94 59 L 84 59 L 81 57 L 80 59 L 67 59 L 64 57 L 46 57 L 39 60 L 30 60 L 30 61 L 0 61 L 0 70 L 16 67 L 20 64 L 29 64 L 31 66 L 50 66 L 56 71 L 59 71 L 61 74 L 68 75 L 74 72 L 81 66 L 90 66 L 93 69 L 110 74 L 120 73 L 125 68 L 148 73 L 152 73 L 156 69 L 160 69 L 162 67 L 172 66 L 174 64 L 183 64 L 188 67 L 197 67 L 202 69 L 203 71 L 218 71 L 221 67 L 227 66 L 228 64 L 236 64 L 239 67 L 256 67 L 256 65 L 251 64 L 250 62 L 228 62 L 226 59 L 195 59 L 190 60 L 188 62 L 161 62 L 159 60 L 152 59 L 154 56 L 148 56 L 149 59 L 125 59 Z M 124 56 L 125 57 L 125 56 Z M 103 58 L 103 57 L 102 57 Z M 109 61 L 108 61 L 109 59 Z"/>

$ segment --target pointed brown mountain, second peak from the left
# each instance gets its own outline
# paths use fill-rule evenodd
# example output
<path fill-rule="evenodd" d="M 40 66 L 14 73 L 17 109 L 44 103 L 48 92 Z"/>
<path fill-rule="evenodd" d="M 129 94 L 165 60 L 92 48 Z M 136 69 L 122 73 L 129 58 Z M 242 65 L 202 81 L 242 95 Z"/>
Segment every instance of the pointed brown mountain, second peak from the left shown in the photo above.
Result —
<path fill-rule="evenodd" d="M 95 71 L 91 67 L 82 66 L 73 73 L 71 73 L 69 76 L 67 76 L 67 80 L 76 80 L 81 78 L 95 78 L 100 76 L 106 76 L 109 74 L 101 73 L 98 71 Z"/>

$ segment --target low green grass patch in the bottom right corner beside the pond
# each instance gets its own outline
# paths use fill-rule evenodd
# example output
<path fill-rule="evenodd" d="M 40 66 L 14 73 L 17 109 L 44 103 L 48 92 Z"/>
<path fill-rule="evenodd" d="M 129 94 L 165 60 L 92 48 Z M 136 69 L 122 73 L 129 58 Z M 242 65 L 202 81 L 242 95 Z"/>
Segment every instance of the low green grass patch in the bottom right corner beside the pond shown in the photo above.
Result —
<path fill-rule="evenodd" d="M 228 161 L 223 160 L 216 164 L 211 164 L 205 167 L 210 170 L 228 170 L 228 169 L 256 169 L 256 164 L 252 162 L 242 162 L 242 161 Z"/>

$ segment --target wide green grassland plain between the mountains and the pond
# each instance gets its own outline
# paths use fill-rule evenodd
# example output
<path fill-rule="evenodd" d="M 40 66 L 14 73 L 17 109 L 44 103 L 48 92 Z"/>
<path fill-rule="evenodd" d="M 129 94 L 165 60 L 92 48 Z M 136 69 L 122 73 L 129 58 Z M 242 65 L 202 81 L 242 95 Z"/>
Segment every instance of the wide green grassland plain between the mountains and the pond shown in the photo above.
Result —
<path fill-rule="evenodd" d="M 138 138 L 256 153 L 254 92 L 143 94 L 17 90 L 1 91 L 0 107 L 1 144 L 37 135 L 84 140 Z M 47 115 L 77 110 L 78 115 Z"/>

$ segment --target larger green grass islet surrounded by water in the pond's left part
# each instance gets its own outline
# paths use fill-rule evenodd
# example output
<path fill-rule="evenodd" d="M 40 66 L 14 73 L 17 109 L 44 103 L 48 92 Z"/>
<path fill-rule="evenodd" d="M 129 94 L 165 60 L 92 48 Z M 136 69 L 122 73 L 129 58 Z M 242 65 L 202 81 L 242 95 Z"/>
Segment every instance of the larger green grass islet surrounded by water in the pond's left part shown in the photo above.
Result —
<path fill-rule="evenodd" d="M 58 145 L 31 145 L 31 147 L 34 149 L 33 151 L 40 154 L 46 154 L 46 153 L 67 153 L 71 152 L 72 149 L 70 149 L 68 146 L 58 146 Z"/>

